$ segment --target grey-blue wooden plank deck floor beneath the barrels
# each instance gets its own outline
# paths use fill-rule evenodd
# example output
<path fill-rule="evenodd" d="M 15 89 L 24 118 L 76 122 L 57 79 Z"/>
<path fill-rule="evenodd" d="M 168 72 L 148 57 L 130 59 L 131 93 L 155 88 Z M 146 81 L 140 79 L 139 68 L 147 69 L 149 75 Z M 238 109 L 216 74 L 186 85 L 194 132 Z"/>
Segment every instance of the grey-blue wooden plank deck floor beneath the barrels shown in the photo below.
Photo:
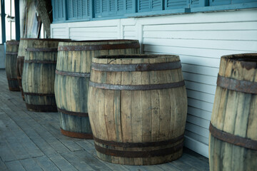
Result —
<path fill-rule="evenodd" d="M 162 165 L 115 165 L 96 157 L 93 140 L 68 138 L 58 113 L 26 110 L 20 92 L 8 89 L 0 70 L 0 170 L 208 170 L 206 157 L 184 148 L 183 156 Z"/>

